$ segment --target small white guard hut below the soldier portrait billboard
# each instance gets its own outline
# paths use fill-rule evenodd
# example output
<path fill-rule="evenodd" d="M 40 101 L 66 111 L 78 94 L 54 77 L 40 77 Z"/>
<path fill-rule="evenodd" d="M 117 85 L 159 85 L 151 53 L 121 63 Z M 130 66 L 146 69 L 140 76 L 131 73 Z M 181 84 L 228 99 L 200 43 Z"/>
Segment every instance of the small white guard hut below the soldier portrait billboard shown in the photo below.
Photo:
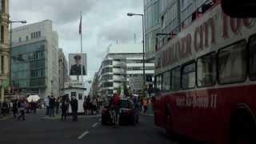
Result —
<path fill-rule="evenodd" d="M 68 95 L 70 100 L 75 96 L 78 100 L 78 113 L 84 113 L 83 102 L 85 99 L 85 85 L 82 82 L 65 82 L 64 94 Z M 69 108 L 71 113 L 71 106 Z"/>

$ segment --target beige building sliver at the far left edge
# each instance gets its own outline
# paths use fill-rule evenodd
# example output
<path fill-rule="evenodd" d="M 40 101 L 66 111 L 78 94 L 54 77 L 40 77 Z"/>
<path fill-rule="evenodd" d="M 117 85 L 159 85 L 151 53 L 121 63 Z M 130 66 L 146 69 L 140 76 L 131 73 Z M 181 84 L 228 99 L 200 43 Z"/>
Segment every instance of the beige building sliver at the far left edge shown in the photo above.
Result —
<path fill-rule="evenodd" d="M 4 90 L 9 87 L 9 0 L 0 0 L 0 102 L 4 101 Z"/>

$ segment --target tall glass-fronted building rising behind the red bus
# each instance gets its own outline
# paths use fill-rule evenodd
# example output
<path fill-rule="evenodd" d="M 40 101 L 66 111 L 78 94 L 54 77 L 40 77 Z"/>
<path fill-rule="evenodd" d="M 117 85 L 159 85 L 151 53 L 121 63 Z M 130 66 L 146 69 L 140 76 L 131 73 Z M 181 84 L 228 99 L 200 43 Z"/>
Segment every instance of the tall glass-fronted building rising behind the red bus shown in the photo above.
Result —
<path fill-rule="evenodd" d="M 191 22 L 199 18 L 216 1 L 144 0 L 146 59 L 154 59 L 156 48 L 190 26 Z M 157 33 L 162 35 L 156 37 Z"/>

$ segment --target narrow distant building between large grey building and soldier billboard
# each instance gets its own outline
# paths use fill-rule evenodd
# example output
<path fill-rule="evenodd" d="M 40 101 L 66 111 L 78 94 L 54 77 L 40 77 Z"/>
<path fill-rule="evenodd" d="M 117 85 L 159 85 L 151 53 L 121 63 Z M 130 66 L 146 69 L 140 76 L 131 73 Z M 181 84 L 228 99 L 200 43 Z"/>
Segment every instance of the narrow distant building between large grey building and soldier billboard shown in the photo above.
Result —
<path fill-rule="evenodd" d="M 69 82 L 67 61 L 62 49 L 58 49 L 58 88 L 60 95 L 64 95 L 65 82 Z"/>

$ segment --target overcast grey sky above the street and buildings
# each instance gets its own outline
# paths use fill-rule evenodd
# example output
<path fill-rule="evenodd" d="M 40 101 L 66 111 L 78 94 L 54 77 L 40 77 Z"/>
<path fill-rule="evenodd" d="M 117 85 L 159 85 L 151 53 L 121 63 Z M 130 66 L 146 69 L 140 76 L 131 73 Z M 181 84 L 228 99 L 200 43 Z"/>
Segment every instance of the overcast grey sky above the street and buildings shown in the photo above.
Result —
<path fill-rule="evenodd" d="M 67 55 L 80 50 L 78 26 L 82 11 L 83 52 L 87 53 L 91 79 L 102 62 L 110 43 L 137 42 L 142 39 L 142 19 L 127 17 L 128 12 L 141 14 L 143 0 L 10 0 L 10 19 L 28 23 L 50 19 L 58 31 L 59 42 Z M 14 25 L 19 26 L 19 25 Z"/>

